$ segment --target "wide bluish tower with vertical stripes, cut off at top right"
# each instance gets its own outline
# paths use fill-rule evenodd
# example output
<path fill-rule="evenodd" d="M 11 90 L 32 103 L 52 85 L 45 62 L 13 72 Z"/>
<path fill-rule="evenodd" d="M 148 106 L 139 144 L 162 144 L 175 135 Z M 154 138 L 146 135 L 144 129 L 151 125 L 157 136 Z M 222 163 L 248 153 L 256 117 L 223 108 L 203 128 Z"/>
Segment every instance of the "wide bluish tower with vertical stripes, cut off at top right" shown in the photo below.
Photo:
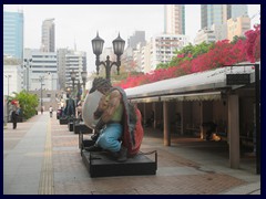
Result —
<path fill-rule="evenodd" d="M 231 18 L 247 14 L 247 4 L 202 4 L 202 29 L 211 29 L 213 24 L 226 23 Z"/>

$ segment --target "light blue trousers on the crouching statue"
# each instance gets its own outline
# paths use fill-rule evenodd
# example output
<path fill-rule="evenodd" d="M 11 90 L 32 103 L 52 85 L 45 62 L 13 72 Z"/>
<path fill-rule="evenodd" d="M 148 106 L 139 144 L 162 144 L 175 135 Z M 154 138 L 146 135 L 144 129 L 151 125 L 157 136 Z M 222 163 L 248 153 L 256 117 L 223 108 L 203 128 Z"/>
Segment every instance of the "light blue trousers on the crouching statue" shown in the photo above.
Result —
<path fill-rule="evenodd" d="M 119 151 L 121 148 L 122 125 L 119 123 L 108 124 L 106 128 L 102 129 L 96 140 L 96 146 L 112 153 Z"/>

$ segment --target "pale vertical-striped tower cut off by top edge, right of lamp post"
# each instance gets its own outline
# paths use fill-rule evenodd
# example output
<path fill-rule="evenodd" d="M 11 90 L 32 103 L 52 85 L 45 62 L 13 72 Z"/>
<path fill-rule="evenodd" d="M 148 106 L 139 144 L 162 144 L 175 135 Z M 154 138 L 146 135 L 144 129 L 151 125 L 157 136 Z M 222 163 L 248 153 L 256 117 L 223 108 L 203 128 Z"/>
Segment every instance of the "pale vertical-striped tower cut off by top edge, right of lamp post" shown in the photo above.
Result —
<path fill-rule="evenodd" d="M 185 6 L 164 6 L 164 33 L 185 34 Z"/>

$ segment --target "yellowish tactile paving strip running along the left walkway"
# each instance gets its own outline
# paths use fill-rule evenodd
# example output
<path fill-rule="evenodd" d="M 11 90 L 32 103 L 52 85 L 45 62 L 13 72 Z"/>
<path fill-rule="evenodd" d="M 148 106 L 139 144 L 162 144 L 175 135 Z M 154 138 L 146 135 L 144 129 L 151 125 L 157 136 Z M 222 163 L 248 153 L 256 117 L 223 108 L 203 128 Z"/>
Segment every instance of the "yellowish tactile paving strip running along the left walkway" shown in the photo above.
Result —
<path fill-rule="evenodd" d="M 39 195 L 54 195 L 53 167 L 52 167 L 52 143 L 51 143 L 51 121 L 48 122 L 47 140 L 44 147 L 44 158 L 42 163 L 41 178 L 39 182 Z"/>

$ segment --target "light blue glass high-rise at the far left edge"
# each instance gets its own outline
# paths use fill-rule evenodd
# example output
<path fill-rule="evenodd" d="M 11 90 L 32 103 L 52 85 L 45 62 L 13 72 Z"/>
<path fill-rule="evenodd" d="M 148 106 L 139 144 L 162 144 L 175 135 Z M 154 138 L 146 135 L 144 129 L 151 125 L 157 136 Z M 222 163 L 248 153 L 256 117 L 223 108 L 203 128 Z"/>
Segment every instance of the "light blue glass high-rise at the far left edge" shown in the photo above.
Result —
<path fill-rule="evenodd" d="M 3 55 L 23 59 L 23 25 L 22 11 L 3 11 Z"/>

